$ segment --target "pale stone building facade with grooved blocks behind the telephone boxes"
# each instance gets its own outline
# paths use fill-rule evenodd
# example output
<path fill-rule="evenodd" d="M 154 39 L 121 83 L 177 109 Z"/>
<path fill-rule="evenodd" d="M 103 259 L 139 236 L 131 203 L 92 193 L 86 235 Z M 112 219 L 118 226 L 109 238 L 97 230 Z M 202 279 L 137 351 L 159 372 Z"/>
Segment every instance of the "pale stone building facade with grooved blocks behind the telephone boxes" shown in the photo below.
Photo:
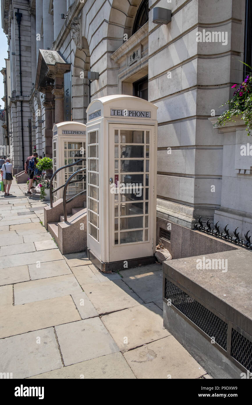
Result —
<path fill-rule="evenodd" d="M 210 119 L 224 111 L 220 106 L 231 98 L 231 86 L 243 80 L 239 61 L 250 62 L 249 3 L 2 0 L 15 167 L 22 170 L 22 150 L 26 157 L 34 146 L 51 156 L 52 127 L 66 117 L 64 82 L 71 72 L 74 121 L 86 123 L 90 100 L 106 95 L 135 95 L 157 105 L 157 240 L 174 258 L 182 256 L 183 229 L 192 229 L 200 216 L 220 220 L 222 227 L 237 223 L 242 233 L 252 230 L 251 158 L 246 173 L 233 167 L 237 145 L 248 142 L 246 132 L 240 128 L 243 134 L 235 141 L 233 130 L 228 138 Z M 155 7 L 171 10 L 171 22 L 154 23 Z M 17 9 L 22 13 L 22 94 Z M 98 79 L 90 82 L 89 71 Z M 228 202 L 230 192 L 234 204 Z"/>

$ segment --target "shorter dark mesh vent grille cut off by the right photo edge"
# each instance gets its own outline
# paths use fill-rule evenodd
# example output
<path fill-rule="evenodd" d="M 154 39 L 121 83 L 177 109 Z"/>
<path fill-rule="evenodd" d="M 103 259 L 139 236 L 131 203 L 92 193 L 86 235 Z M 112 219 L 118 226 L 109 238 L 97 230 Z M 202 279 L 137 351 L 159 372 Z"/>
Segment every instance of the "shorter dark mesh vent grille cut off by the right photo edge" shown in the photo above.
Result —
<path fill-rule="evenodd" d="M 252 342 L 232 328 L 231 356 L 252 373 Z"/>

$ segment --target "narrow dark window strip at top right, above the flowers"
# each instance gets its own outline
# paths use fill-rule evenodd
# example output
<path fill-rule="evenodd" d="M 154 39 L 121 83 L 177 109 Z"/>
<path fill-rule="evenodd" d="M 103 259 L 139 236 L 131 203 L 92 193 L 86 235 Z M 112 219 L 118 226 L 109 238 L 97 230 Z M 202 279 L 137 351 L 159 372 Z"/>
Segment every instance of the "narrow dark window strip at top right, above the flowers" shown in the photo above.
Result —
<path fill-rule="evenodd" d="M 252 66 L 252 2 L 246 0 L 245 12 L 245 38 L 244 38 L 244 62 Z M 244 65 L 244 77 L 250 73 L 248 66 Z"/>

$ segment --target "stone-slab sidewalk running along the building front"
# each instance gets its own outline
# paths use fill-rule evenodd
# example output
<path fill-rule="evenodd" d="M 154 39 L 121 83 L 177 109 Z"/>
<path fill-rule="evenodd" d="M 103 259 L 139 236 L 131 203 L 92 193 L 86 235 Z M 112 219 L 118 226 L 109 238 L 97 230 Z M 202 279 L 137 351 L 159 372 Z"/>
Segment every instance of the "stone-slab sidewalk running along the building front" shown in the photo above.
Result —
<path fill-rule="evenodd" d="M 100 273 L 62 256 L 40 200 L 0 195 L 0 372 L 13 378 L 211 378 L 163 328 L 161 265 Z M 204 377 L 202 377 L 204 376 Z"/>

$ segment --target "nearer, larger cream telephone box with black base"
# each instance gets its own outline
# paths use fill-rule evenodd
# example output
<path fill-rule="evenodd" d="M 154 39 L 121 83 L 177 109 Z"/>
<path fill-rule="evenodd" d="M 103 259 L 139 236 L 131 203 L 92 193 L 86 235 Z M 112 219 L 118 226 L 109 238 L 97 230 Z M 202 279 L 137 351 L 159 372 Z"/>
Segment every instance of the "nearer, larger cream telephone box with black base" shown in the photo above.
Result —
<path fill-rule="evenodd" d="M 87 108 L 87 252 L 102 271 L 155 261 L 157 107 L 106 96 Z"/>

